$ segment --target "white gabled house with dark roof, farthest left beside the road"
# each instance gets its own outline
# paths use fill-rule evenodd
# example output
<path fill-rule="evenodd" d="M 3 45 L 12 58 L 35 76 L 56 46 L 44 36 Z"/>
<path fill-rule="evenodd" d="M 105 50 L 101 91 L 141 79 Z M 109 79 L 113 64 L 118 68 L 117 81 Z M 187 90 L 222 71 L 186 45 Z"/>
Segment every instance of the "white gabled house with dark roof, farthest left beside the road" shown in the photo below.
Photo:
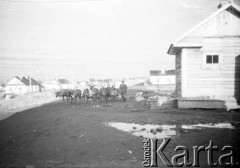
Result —
<path fill-rule="evenodd" d="M 31 81 L 31 82 L 30 82 Z M 41 85 L 30 77 L 14 76 L 5 86 L 6 94 L 26 94 L 29 92 L 39 92 Z"/>

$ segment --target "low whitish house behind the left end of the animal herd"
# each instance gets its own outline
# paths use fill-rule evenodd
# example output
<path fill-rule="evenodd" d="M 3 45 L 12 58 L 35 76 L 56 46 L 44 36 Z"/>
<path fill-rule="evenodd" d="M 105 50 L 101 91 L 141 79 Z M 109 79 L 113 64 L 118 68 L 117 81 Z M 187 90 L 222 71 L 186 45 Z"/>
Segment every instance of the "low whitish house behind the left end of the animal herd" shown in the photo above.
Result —
<path fill-rule="evenodd" d="M 54 79 L 44 82 L 46 90 L 74 89 L 74 85 L 67 79 Z"/>

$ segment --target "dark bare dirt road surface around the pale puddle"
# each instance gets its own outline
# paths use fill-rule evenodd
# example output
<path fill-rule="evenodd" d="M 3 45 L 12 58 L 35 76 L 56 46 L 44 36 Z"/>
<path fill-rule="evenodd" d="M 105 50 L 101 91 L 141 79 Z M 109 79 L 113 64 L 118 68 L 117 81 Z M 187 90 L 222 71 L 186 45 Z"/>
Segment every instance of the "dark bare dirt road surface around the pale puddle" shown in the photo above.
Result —
<path fill-rule="evenodd" d="M 83 102 L 76 105 L 55 102 L 16 113 L 0 121 L 0 166 L 142 167 L 143 138 L 104 123 L 181 125 L 240 121 L 240 113 L 236 112 L 131 111 L 134 103 L 128 100 L 94 108 Z M 219 149 L 224 145 L 239 148 L 239 135 L 238 128 L 178 130 L 165 153 L 172 156 L 176 145 L 185 145 L 191 155 L 192 146 L 208 146 L 210 140 Z M 206 154 L 203 154 L 200 166 L 206 165 Z M 159 166 L 164 164 L 159 161 Z"/>

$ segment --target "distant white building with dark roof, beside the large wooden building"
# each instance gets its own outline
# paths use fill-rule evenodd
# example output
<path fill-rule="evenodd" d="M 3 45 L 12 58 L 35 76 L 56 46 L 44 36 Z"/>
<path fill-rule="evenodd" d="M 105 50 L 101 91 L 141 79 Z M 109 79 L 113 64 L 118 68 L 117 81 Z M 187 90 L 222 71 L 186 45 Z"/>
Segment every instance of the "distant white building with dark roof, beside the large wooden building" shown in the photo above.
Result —
<path fill-rule="evenodd" d="M 151 70 L 149 82 L 153 85 L 175 84 L 175 70 Z"/>

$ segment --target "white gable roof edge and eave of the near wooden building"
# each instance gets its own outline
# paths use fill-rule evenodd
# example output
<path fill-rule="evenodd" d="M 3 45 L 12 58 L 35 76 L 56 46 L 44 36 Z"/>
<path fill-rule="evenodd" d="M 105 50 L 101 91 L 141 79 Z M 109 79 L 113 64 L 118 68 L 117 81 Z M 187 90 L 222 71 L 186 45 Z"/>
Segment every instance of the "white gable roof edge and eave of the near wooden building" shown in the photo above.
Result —
<path fill-rule="evenodd" d="M 199 24 L 197 24 L 196 26 L 194 26 L 192 29 L 188 30 L 186 33 L 184 33 L 183 35 L 181 35 L 180 37 L 178 37 L 169 47 L 168 49 L 168 54 L 172 54 L 174 55 L 175 52 L 173 51 L 174 48 L 182 48 L 182 47 L 202 47 L 201 43 L 194 43 L 194 44 L 178 44 L 181 40 L 183 40 L 184 38 L 186 38 L 189 34 L 191 34 L 193 31 L 195 31 L 196 29 L 198 29 L 199 27 L 201 27 L 202 25 L 204 25 L 205 23 L 207 23 L 209 20 L 211 20 L 212 18 L 216 17 L 218 14 L 220 14 L 221 12 L 223 12 L 224 10 L 227 9 L 233 9 L 236 12 L 240 13 L 240 7 L 238 5 L 236 5 L 233 2 L 229 2 L 228 4 L 222 6 L 220 9 L 218 9 L 216 12 L 214 12 L 212 15 L 210 15 L 209 17 L 207 17 L 205 20 L 201 21 Z"/>

